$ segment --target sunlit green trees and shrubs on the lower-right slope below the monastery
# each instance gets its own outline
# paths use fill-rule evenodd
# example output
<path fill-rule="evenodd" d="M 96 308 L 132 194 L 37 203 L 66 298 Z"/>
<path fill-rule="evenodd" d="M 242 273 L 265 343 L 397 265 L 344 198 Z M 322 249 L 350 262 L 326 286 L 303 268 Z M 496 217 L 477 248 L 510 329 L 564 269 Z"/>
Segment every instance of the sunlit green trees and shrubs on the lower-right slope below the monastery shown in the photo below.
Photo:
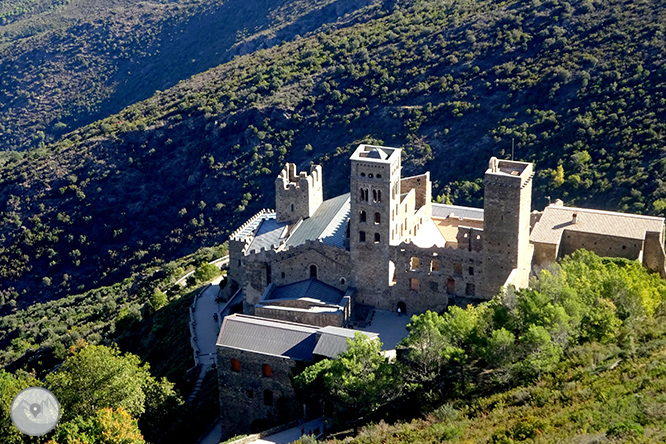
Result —
<path fill-rule="evenodd" d="M 528 289 L 412 317 L 396 364 L 357 338 L 296 383 L 342 421 L 427 416 L 345 442 L 663 442 L 664 301 L 640 264 L 581 250 Z"/>

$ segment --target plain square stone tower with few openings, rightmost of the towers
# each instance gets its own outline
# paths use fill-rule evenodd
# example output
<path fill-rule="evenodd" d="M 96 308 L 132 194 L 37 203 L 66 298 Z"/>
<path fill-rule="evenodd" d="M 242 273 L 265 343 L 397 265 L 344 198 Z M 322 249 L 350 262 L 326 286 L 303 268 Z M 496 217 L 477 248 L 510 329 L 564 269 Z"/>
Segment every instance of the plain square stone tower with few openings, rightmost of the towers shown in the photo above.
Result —
<path fill-rule="evenodd" d="M 481 295 L 485 298 L 498 294 L 507 283 L 517 287 L 527 285 L 533 251 L 530 245 L 533 176 L 531 163 L 490 159 L 483 180 Z"/>

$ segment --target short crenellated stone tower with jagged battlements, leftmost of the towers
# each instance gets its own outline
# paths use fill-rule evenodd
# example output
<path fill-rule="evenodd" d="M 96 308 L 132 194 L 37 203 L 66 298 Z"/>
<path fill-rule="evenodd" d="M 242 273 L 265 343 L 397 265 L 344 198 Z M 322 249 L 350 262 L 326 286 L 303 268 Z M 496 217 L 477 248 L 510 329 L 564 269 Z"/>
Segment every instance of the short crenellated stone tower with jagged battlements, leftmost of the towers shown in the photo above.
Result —
<path fill-rule="evenodd" d="M 287 163 L 275 179 L 275 213 L 278 222 L 296 222 L 311 217 L 324 201 L 321 166 L 310 167 L 310 174 L 297 173 Z"/>

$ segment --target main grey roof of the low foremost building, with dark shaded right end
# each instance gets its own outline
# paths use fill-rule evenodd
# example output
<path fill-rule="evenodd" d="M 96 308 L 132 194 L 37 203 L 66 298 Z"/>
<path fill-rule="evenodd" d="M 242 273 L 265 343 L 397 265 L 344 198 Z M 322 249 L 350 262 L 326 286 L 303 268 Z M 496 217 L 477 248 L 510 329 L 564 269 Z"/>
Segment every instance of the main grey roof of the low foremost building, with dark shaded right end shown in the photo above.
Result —
<path fill-rule="evenodd" d="M 224 318 L 217 346 L 311 361 L 318 330 L 295 322 L 236 314 Z"/>

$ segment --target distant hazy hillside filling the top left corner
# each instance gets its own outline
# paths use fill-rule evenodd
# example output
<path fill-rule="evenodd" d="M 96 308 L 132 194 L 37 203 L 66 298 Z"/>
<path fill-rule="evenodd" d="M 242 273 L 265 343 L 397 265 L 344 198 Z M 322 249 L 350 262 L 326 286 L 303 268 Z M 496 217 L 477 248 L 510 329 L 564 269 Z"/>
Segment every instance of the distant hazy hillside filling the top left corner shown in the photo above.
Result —
<path fill-rule="evenodd" d="M 292 40 L 372 3 L 3 2 L 0 146 L 49 143 L 235 55 Z"/>

